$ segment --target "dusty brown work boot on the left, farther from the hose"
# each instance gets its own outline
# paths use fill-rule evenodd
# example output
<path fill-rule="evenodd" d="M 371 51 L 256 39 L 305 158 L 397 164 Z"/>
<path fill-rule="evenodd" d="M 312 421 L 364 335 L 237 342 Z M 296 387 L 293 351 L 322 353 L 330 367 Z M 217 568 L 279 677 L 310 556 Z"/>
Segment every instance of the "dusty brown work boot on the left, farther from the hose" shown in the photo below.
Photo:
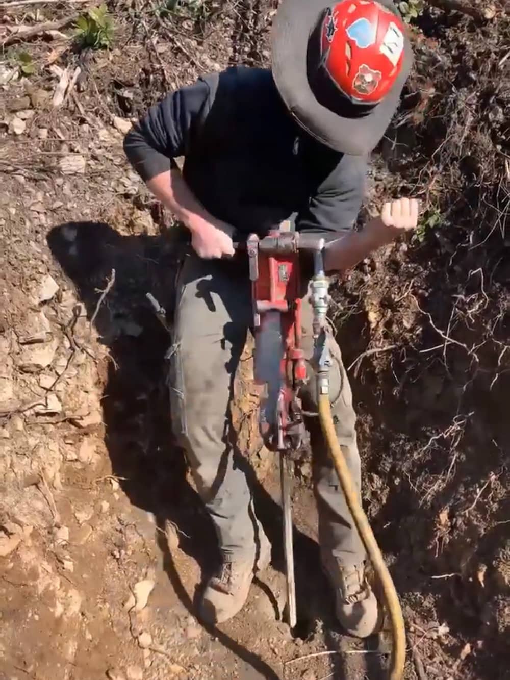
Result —
<path fill-rule="evenodd" d="M 222 624 L 235 616 L 244 606 L 256 572 L 269 566 L 271 543 L 260 529 L 260 552 L 254 558 L 224 559 L 218 573 L 207 583 L 201 603 L 201 615 L 211 624 Z"/>

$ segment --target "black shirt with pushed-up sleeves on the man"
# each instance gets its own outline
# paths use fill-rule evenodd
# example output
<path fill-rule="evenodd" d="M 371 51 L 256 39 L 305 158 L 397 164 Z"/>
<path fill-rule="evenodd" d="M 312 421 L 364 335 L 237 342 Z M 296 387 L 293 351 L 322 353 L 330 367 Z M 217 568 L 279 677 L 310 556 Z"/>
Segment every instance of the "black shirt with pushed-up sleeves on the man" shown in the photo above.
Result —
<path fill-rule="evenodd" d="M 262 233 L 295 216 L 298 231 L 326 238 L 352 227 L 367 158 L 347 156 L 299 129 L 271 71 L 233 67 L 169 94 L 126 135 L 143 180 L 175 167 L 216 218 Z"/>

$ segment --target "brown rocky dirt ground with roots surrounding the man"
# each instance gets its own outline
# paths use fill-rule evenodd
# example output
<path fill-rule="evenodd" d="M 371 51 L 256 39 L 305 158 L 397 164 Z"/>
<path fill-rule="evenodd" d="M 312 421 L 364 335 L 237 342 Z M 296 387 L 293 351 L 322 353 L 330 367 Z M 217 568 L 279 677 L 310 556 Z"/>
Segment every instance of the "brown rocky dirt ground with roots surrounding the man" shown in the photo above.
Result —
<path fill-rule="evenodd" d="M 364 507 L 403 602 L 407 680 L 510 679 L 510 16 L 461 4 L 475 16 L 428 7 L 413 21 L 415 68 L 360 216 L 417 195 L 418 234 L 337 282 L 330 310 Z M 231 622 L 204 626 L 194 607 L 218 555 L 173 445 L 169 335 L 145 296 L 171 320 L 178 248 L 122 137 L 199 73 L 267 65 L 277 0 L 109 1 L 108 50 L 76 48 L 68 3 L 7 5 L 0 679 L 385 677 L 388 636 L 360 643 L 335 624 L 307 457 L 293 496 L 297 629 L 282 620 L 278 472 L 256 435 L 250 346 L 233 414 L 272 566 Z M 15 37 L 46 21 L 58 28 Z"/>

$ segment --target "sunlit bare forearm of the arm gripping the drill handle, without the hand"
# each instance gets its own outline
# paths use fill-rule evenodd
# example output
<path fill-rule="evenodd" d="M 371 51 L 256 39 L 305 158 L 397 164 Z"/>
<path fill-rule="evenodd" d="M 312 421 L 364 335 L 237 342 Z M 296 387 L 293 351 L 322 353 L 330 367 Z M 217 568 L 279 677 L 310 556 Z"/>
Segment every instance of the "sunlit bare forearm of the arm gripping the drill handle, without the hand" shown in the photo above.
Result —
<path fill-rule="evenodd" d="M 186 184 L 179 169 L 163 172 L 147 182 L 156 199 L 173 212 L 190 231 L 202 222 L 212 222 L 213 216 L 203 207 Z"/>

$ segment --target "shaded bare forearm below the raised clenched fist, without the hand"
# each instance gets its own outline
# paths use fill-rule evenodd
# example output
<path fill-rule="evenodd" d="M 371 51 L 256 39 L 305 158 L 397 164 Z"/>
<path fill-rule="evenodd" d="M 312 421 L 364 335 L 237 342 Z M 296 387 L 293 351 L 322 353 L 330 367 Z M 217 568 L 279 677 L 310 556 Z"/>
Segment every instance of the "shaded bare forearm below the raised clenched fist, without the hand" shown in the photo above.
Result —
<path fill-rule="evenodd" d="M 354 267 L 377 248 L 391 243 L 395 236 L 396 233 L 385 226 L 381 218 L 371 220 L 362 231 L 350 231 L 326 246 L 326 271 L 345 271 Z"/>

